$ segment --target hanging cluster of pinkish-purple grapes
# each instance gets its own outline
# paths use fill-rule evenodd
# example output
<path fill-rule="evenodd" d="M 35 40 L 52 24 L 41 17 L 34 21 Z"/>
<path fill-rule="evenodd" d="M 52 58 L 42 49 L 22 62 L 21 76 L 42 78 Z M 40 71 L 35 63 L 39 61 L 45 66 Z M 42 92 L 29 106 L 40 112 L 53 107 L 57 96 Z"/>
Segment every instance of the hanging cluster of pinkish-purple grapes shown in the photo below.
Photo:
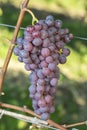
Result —
<path fill-rule="evenodd" d="M 31 71 L 29 96 L 35 113 L 43 120 L 55 111 L 53 95 L 59 79 L 58 65 L 64 64 L 70 54 L 65 44 L 73 35 L 61 27 L 62 21 L 49 15 L 34 26 L 27 26 L 14 48 L 18 60 L 24 62 L 27 71 Z"/>

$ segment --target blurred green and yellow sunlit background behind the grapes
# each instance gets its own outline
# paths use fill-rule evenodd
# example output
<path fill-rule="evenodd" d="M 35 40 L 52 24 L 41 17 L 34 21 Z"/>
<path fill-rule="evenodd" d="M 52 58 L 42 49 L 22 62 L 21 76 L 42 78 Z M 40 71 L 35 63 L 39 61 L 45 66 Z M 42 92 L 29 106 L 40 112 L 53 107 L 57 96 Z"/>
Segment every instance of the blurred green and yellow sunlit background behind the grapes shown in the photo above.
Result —
<path fill-rule="evenodd" d="M 0 23 L 16 25 L 22 0 L 0 0 Z M 69 28 L 75 36 L 87 37 L 86 0 L 30 0 L 28 7 L 38 19 L 51 14 L 63 21 L 63 28 Z M 22 26 L 30 25 L 32 17 L 26 13 Z M 0 26 L 0 67 L 3 65 L 9 40 L 14 29 Z M 19 35 L 23 31 L 20 30 Z M 87 120 L 87 41 L 73 39 L 68 44 L 71 55 L 67 63 L 60 66 L 60 81 L 55 94 L 56 111 L 51 119 L 60 124 L 70 124 Z M 4 96 L 0 101 L 13 105 L 26 105 L 32 109 L 29 99 L 29 74 L 24 65 L 12 56 L 3 84 Z M 0 130 L 28 130 L 30 124 L 3 116 Z M 45 129 L 45 128 L 44 128 Z M 77 127 L 87 130 L 87 126 Z"/>

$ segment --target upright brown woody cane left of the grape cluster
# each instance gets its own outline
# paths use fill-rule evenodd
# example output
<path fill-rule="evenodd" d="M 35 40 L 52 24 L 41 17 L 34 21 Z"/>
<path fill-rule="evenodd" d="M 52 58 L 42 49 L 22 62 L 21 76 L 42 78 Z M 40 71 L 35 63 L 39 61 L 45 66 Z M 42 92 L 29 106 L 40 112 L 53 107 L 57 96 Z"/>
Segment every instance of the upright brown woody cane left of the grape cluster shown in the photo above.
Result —
<path fill-rule="evenodd" d="M 14 30 L 13 38 L 11 40 L 12 44 L 10 44 L 10 47 L 8 49 L 8 53 L 7 53 L 7 56 L 5 58 L 3 67 L 0 70 L 0 72 L 1 72 L 0 73 L 0 95 L 2 95 L 2 85 L 3 85 L 4 77 L 5 77 L 5 74 L 6 74 L 7 67 L 8 67 L 8 64 L 10 62 L 11 56 L 12 56 L 12 52 L 13 52 L 13 49 L 14 49 L 14 46 L 15 46 L 15 42 L 16 42 L 18 32 L 20 30 L 20 26 L 21 26 L 21 23 L 23 21 L 23 17 L 24 17 L 24 14 L 25 14 L 24 8 L 27 7 L 28 2 L 29 2 L 29 0 L 25 0 L 23 2 L 23 4 L 21 5 L 20 15 L 19 15 L 19 18 L 18 18 L 18 21 L 17 21 L 17 24 L 16 24 L 16 28 Z"/>

